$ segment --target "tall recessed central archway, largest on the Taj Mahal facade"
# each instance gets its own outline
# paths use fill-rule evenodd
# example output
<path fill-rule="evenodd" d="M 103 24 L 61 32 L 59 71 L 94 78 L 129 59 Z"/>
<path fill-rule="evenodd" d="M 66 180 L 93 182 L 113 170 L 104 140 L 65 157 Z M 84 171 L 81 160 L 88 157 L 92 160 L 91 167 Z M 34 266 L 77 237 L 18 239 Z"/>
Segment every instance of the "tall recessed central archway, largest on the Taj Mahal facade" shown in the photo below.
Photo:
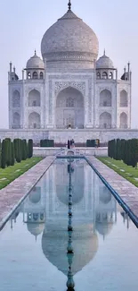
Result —
<path fill-rule="evenodd" d="M 84 97 L 72 87 L 61 90 L 56 99 L 56 127 L 84 128 Z"/>

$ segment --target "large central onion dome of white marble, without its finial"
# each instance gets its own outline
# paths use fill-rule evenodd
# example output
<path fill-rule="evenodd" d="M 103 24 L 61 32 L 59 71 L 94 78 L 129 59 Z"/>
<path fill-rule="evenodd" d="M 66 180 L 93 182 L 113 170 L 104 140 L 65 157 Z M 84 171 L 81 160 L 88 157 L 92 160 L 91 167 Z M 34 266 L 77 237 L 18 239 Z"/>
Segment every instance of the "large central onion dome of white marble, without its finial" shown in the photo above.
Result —
<path fill-rule="evenodd" d="M 93 30 L 69 10 L 46 32 L 41 43 L 46 62 L 93 63 L 99 50 Z"/>

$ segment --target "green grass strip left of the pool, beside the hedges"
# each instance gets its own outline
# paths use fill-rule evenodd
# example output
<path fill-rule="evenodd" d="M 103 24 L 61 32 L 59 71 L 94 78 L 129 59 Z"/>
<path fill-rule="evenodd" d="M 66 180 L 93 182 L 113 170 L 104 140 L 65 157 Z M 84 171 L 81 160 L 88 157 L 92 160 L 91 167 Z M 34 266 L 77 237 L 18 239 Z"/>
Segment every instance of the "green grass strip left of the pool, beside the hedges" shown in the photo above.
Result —
<path fill-rule="evenodd" d="M 35 166 L 42 158 L 27 158 L 14 166 L 0 168 L 0 189 L 10 184 L 23 173 L 27 172 L 30 167 Z"/>

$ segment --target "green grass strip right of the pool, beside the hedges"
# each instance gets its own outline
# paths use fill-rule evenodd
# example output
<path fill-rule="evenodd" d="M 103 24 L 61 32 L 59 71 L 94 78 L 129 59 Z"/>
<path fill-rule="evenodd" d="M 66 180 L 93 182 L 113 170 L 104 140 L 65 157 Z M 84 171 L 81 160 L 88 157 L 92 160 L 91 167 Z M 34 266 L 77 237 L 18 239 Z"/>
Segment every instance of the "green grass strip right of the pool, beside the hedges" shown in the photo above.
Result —
<path fill-rule="evenodd" d="M 127 166 L 123 163 L 122 160 L 116 160 L 114 158 L 99 158 L 101 162 L 108 167 L 112 168 L 115 172 L 117 172 L 119 175 L 122 175 L 126 180 L 134 184 L 136 187 L 138 187 L 138 181 L 136 181 L 134 178 L 138 179 L 138 169 L 135 169 L 134 167 Z M 117 166 L 114 167 L 113 165 Z M 124 170 L 125 172 L 120 171 L 120 169 Z"/>

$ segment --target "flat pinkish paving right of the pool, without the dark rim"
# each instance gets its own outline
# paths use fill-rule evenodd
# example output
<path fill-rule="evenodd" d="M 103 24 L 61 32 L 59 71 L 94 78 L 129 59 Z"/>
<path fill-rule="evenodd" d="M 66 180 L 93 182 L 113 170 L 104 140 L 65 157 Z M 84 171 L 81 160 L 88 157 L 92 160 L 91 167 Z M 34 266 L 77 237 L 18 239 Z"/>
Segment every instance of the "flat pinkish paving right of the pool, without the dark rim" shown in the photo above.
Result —
<path fill-rule="evenodd" d="M 86 157 L 138 218 L 138 188 L 94 157 Z"/>

